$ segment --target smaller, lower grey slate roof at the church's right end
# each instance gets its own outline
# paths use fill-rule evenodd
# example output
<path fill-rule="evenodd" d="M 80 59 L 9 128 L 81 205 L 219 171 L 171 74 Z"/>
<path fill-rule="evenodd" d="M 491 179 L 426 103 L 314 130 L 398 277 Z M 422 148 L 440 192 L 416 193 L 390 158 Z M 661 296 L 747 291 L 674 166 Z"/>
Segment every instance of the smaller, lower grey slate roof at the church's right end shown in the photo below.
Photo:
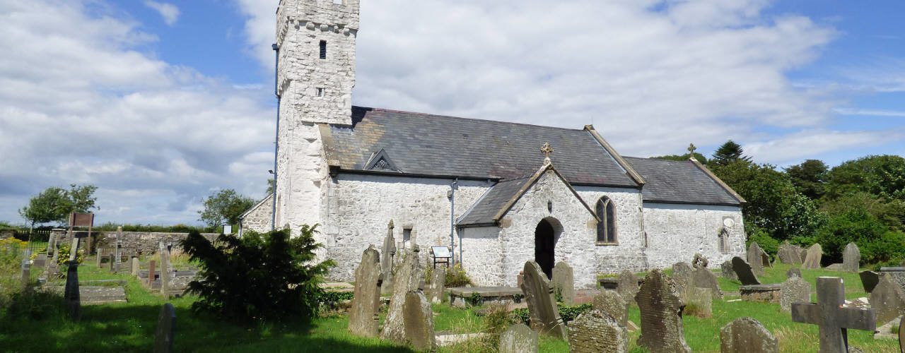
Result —
<path fill-rule="evenodd" d="M 690 161 L 623 157 L 641 173 L 645 202 L 739 206 L 740 202 Z"/>

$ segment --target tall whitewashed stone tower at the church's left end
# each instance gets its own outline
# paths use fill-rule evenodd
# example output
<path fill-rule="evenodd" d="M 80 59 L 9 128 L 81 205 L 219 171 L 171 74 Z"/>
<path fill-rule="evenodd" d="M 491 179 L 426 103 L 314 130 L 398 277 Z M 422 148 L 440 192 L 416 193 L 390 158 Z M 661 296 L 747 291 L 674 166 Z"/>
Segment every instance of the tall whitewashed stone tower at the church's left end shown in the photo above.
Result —
<path fill-rule="evenodd" d="M 322 224 L 329 166 L 320 131 L 352 124 L 358 0 L 281 0 L 277 8 L 276 228 Z"/>

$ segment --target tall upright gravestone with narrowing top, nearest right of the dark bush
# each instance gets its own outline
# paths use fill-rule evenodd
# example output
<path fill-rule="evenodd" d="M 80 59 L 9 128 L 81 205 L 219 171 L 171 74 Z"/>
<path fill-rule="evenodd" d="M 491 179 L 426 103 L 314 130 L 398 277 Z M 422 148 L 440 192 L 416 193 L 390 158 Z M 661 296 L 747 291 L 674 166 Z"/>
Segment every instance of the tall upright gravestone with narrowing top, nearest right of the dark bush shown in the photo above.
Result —
<path fill-rule="evenodd" d="M 368 246 L 355 270 L 355 293 L 348 312 L 348 330 L 354 335 L 377 337 L 380 325 L 380 254 Z"/>

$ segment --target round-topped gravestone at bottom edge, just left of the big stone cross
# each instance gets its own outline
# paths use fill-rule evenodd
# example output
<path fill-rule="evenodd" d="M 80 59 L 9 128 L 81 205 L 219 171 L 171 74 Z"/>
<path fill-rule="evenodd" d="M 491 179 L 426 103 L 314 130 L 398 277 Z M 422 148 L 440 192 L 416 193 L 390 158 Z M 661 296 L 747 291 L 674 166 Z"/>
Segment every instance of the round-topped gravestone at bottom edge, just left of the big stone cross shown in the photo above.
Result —
<path fill-rule="evenodd" d="M 777 353 L 779 342 L 760 321 L 738 318 L 719 330 L 720 353 Z"/>

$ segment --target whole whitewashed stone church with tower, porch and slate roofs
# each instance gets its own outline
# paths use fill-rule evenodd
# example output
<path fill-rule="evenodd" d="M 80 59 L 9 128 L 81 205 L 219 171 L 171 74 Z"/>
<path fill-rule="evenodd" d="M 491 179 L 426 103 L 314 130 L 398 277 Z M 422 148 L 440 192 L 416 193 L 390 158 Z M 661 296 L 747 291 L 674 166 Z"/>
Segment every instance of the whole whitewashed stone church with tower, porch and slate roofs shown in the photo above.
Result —
<path fill-rule="evenodd" d="M 623 156 L 592 125 L 353 106 L 358 14 L 358 0 L 281 0 L 276 187 L 244 229 L 318 224 L 338 281 L 390 220 L 398 246 L 447 246 L 476 285 L 515 286 L 529 260 L 548 275 L 566 261 L 594 288 L 599 274 L 744 253 L 745 200 L 694 159 Z"/>

